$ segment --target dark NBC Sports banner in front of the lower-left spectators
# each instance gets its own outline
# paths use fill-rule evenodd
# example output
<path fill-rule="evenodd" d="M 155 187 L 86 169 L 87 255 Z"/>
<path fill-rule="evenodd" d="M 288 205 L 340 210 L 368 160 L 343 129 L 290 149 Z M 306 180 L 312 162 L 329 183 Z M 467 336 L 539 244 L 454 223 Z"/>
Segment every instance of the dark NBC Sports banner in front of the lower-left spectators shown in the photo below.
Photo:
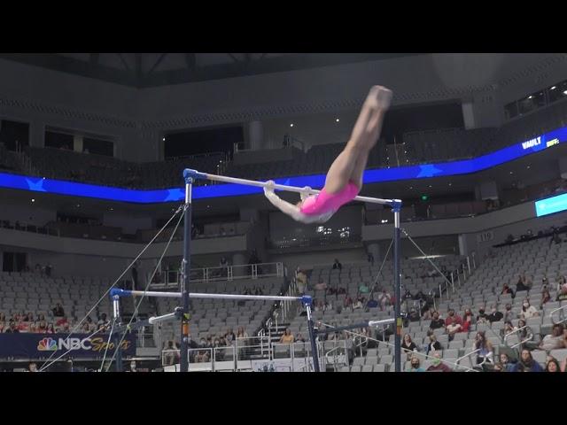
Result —
<path fill-rule="evenodd" d="M 102 358 L 108 347 L 107 356 L 112 356 L 116 342 L 108 343 L 108 335 L 87 334 L 0 334 L 0 358 L 25 359 L 48 358 L 66 354 L 66 357 Z M 136 355 L 136 334 L 128 334 L 121 344 L 124 356 Z"/>

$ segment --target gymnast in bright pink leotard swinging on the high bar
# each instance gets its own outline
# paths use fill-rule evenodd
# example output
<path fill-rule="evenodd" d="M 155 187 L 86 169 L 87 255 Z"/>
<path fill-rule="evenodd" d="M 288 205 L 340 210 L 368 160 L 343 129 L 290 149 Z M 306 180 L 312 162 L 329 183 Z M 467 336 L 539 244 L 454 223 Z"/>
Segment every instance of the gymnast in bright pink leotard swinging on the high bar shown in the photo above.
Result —
<path fill-rule="evenodd" d="M 342 206 L 353 200 L 362 188 L 362 175 L 368 162 L 370 150 L 376 145 L 384 113 L 390 107 L 392 91 L 382 86 L 370 89 L 362 105 L 361 113 L 354 124 L 353 133 L 345 149 L 329 168 L 325 186 L 317 195 L 301 193 L 301 201 L 293 205 L 274 192 L 274 181 L 266 182 L 264 194 L 269 202 L 293 220 L 302 223 L 324 223 Z"/>

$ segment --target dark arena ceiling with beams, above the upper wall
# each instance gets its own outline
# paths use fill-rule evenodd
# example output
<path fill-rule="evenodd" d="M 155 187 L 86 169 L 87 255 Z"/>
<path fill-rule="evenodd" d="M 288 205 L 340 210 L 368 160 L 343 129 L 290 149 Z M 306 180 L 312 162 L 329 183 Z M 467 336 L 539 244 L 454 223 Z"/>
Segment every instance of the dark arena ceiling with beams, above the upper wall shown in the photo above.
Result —
<path fill-rule="evenodd" d="M 0 58 L 147 88 L 423 53 L 3 53 Z"/>

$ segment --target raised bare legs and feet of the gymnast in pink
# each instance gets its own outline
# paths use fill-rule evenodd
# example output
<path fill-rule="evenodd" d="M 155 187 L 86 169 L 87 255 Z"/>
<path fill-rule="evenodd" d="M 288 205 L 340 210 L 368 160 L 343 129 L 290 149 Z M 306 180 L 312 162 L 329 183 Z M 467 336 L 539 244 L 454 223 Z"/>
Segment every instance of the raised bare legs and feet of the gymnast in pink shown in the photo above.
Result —
<path fill-rule="evenodd" d="M 344 151 L 329 168 L 325 180 L 326 192 L 338 193 L 351 181 L 361 188 L 369 152 L 377 143 L 384 113 L 388 110 L 391 99 L 392 91 L 389 89 L 381 86 L 370 89 Z"/>

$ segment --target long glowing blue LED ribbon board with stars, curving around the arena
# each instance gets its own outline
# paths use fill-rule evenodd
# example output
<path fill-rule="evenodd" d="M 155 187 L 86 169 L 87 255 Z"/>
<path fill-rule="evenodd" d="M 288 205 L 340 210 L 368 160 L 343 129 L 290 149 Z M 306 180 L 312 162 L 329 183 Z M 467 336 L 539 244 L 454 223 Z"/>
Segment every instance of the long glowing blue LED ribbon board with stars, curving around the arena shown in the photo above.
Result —
<path fill-rule="evenodd" d="M 396 166 L 392 168 L 369 169 L 364 173 L 364 183 L 394 182 L 448 175 L 478 173 L 493 166 L 500 166 L 517 158 L 543 151 L 556 144 L 567 142 L 567 127 L 539 135 L 533 139 L 513 144 L 507 148 L 493 151 L 486 155 L 450 162 L 421 164 L 418 166 Z M 136 204 L 159 204 L 182 202 L 185 199 L 183 177 L 179 175 L 179 188 L 159 190 L 120 189 L 94 184 L 64 182 L 60 180 L 31 177 L 27 175 L 0 173 L 0 188 L 22 189 L 33 192 L 46 192 L 74 197 L 95 197 L 109 201 L 130 202 Z M 322 188 L 325 174 L 290 176 L 275 179 L 278 184 L 302 188 L 311 186 Z M 242 184 L 214 184 L 193 188 L 193 199 L 212 197 L 237 197 L 262 193 L 261 188 L 244 186 Z"/>

